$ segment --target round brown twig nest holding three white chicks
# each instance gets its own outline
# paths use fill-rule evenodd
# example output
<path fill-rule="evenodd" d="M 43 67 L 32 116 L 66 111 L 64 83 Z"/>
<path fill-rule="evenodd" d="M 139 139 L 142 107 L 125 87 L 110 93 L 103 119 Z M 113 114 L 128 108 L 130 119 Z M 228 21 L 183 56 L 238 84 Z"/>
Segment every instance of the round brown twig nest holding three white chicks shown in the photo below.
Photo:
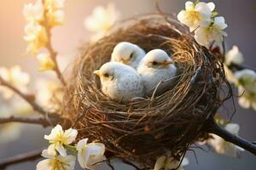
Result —
<path fill-rule="evenodd" d="M 119 42 L 170 54 L 177 66 L 172 88 L 125 104 L 102 94 L 93 71 L 109 61 Z M 221 55 L 200 46 L 172 17 L 148 14 L 120 21 L 105 37 L 84 45 L 67 85 L 63 116 L 80 138 L 105 144 L 107 157 L 152 167 L 166 151 L 180 160 L 191 144 L 207 138 L 203 127 L 227 97 L 221 94 L 224 82 Z"/>

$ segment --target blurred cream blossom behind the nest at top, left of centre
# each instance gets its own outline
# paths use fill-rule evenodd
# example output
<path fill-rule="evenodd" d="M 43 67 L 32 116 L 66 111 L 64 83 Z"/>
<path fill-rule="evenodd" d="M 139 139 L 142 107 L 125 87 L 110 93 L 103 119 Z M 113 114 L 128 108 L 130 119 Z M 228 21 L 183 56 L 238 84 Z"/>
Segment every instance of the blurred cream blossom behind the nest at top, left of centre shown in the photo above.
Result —
<path fill-rule="evenodd" d="M 92 14 L 84 20 L 84 26 L 89 31 L 96 32 L 94 40 L 104 36 L 104 34 L 119 19 L 119 11 L 113 3 L 109 3 L 107 8 L 97 6 Z"/>

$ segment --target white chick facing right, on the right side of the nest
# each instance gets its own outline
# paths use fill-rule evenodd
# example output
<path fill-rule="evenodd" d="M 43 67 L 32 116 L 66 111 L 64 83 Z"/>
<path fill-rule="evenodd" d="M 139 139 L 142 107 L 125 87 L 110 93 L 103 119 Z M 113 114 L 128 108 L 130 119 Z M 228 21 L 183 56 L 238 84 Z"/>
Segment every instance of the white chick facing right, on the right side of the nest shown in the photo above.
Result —
<path fill-rule="evenodd" d="M 151 96 L 157 88 L 157 94 L 163 93 L 176 77 L 177 68 L 164 50 L 154 49 L 145 55 L 137 67 L 137 73 L 143 79 L 145 94 Z"/>

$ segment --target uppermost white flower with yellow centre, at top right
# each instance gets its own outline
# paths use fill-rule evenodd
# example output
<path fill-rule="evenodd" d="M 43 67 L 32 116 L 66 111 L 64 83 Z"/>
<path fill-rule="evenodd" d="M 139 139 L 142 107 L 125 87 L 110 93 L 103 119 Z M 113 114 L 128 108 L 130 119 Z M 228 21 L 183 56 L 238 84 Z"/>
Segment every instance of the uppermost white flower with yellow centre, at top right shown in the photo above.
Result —
<path fill-rule="evenodd" d="M 211 23 L 214 3 L 185 3 L 185 9 L 177 14 L 177 20 L 189 26 L 190 31 L 195 31 L 198 26 L 208 26 Z"/>

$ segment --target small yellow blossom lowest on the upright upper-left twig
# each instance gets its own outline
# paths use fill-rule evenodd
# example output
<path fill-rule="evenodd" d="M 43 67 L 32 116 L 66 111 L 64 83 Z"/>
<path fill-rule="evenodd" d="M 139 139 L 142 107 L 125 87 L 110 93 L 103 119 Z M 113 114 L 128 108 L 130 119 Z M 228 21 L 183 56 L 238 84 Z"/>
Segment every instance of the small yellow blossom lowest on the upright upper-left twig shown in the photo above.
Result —
<path fill-rule="evenodd" d="M 55 62 L 50 58 L 49 54 L 38 54 L 37 58 L 41 65 L 40 71 L 55 70 Z"/>

